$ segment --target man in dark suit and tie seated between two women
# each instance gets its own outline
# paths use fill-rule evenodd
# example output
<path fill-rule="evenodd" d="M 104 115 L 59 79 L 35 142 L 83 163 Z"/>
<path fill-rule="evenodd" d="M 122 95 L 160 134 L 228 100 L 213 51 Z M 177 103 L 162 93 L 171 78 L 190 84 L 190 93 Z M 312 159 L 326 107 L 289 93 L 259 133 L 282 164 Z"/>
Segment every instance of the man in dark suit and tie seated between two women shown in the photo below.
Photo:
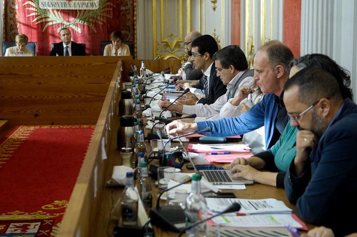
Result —
<path fill-rule="evenodd" d="M 85 56 L 86 49 L 76 42 L 71 41 L 71 32 L 67 28 L 60 31 L 62 42 L 54 44 L 49 56 Z"/>

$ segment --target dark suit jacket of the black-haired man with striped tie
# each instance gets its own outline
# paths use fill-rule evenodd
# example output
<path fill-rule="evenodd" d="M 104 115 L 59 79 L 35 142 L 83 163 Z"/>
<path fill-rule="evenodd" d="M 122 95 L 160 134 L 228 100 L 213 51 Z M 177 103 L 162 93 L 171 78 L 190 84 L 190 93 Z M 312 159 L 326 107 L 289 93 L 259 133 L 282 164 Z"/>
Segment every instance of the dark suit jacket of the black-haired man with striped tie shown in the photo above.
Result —
<path fill-rule="evenodd" d="M 210 86 L 209 86 L 209 96 L 208 98 L 201 98 L 197 103 L 211 104 L 216 101 L 221 95 L 224 95 L 227 91 L 227 87 L 223 85 L 221 78 L 217 77 L 217 72 L 215 69 L 215 63 L 213 62 L 210 73 Z M 192 87 L 203 90 L 205 83 L 203 82 L 203 77 L 199 80 L 199 83 L 193 85 Z"/>

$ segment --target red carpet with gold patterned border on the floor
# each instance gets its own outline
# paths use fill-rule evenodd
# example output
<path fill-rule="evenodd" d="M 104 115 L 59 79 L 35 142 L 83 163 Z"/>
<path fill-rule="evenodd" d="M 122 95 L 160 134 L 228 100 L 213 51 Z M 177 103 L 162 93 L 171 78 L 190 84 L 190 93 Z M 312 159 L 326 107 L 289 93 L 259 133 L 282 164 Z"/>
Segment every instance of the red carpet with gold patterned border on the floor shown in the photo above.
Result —
<path fill-rule="evenodd" d="M 0 236 L 52 236 L 94 126 L 20 126 L 0 145 Z"/>

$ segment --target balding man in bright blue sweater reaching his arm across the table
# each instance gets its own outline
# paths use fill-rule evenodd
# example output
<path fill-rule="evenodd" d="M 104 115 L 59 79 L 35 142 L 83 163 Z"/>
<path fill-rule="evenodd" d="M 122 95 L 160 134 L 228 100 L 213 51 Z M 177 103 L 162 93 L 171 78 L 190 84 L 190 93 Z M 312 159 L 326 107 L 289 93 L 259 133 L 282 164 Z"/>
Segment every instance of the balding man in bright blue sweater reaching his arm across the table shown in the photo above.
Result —
<path fill-rule="evenodd" d="M 174 121 L 166 126 L 169 134 L 189 133 L 211 127 L 208 136 L 234 136 L 265 125 L 265 144 L 269 149 L 276 143 L 289 120 L 284 102 L 283 89 L 289 77 L 292 51 L 279 41 L 265 43 L 254 56 L 254 80 L 266 95 L 249 111 L 235 118 L 215 121 L 184 123 Z"/>

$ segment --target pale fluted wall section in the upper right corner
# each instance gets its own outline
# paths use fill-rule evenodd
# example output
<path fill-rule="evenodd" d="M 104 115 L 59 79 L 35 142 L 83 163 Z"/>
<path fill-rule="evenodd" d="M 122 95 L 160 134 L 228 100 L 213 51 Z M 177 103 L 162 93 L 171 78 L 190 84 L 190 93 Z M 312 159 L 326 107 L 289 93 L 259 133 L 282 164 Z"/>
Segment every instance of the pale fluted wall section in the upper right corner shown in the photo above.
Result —
<path fill-rule="evenodd" d="M 357 92 L 357 4 L 353 0 L 302 0 L 300 46 L 301 55 L 325 54 L 348 69 L 351 88 Z"/>

